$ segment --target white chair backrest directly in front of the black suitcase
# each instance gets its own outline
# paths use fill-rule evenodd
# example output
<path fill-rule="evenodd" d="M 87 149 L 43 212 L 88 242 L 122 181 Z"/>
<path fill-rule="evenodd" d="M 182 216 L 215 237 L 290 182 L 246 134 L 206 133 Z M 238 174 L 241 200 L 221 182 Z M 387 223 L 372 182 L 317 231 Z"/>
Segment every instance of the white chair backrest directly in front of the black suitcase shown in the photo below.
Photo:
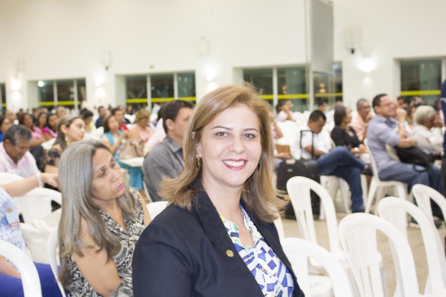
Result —
<path fill-rule="evenodd" d="M 330 250 L 341 250 L 337 234 L 335 205 L 327 190 L 317 182 L 303 176 L 290 178 L 286 182 L 286 190 L 299 223 L 301 237 L 317 244 L 313 210 L 311 208 L 310 190 L 312 190 L 321 198 L 321 207 L 324 208 L 326 215 Z"/>

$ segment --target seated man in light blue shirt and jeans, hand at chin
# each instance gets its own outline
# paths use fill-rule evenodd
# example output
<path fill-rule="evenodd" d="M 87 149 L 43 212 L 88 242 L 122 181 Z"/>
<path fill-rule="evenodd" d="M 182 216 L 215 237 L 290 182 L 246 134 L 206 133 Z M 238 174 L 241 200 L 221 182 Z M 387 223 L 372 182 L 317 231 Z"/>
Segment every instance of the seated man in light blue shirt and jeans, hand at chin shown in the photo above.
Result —
<path fill-rule="evenodd" d="M 416 138 L 406 132 L 406 110 L 397 108 L 395 101 L 386 94 L 375 96 L 372 104 L 376 116 L 369 122 L 367 141 L 370 153 L 375 158 L 380 179 L 406 183 L 409 185 L 409 189 L 415 184 L 423 184 L 441 193 L 440 168 L 437 166 L 425 168 L 403 163 L 391 158 L 386 150 L 386 145 L 399 148 L 410 148 L 417 145 Z M 438 207 L 433 208 L 433 213 L 434 216 L 441 217 Z"/>

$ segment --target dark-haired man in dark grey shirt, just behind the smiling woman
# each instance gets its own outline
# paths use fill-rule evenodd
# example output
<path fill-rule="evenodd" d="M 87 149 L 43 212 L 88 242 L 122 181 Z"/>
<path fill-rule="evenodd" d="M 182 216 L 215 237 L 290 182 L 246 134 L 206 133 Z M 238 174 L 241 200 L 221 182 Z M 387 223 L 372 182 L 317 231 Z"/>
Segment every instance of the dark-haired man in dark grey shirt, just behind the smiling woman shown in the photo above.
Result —
<path fill-rule="evenodd" d="M 183 170 L 183 139 L 192 108 L 192 103 L 182 100 L 170 101 L 163 106 L 166 138 L 149 151 L 142 167 L 152 201 L 161 200 L 159 192 L 163 178 L 176 178 Z"/>

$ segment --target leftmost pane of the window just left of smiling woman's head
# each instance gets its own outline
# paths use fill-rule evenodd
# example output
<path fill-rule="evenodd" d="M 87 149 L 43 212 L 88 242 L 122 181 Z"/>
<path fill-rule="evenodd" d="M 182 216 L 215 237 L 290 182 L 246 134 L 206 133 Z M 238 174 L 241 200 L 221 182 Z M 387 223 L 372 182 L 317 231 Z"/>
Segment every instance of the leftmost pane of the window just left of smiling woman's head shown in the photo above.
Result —
<path fill-rule="evenodd" d="M 125 102 L 132 105 L 134 111 L 147 106 L 147 76 L 126 76 L 125 96 Z"/>

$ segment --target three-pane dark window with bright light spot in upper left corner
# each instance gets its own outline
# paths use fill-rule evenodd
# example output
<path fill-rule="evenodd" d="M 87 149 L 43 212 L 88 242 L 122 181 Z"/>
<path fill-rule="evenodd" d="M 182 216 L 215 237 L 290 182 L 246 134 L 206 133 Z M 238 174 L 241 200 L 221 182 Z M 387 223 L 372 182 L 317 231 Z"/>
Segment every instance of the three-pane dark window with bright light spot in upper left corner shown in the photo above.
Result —
<path fill-rule="evenodd" d="M 39 105 L 46 106 L 48 110 L 52 110 L 55 105 L 69 109 L 80 108 L 82 101 L 87 99 L 85 79 L 38 81 L 37 86 Z"/>

